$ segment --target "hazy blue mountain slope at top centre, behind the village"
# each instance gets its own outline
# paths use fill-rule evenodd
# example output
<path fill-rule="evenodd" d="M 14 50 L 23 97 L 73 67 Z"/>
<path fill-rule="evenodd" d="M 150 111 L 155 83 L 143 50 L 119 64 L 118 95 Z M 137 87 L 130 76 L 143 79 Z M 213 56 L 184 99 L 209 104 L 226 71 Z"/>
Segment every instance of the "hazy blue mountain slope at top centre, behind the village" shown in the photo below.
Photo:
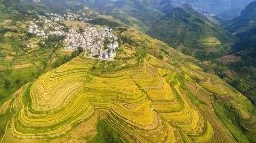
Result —
<path fill-rule="evenodd" d="M 134 24 L 135 22 L 144 30 L 151 27 L 163 16 L 162 12 L 150 7 L 146 1 L 85 0 L 84 3 L 101 13 L 115 16 L 126 24 Z"/>

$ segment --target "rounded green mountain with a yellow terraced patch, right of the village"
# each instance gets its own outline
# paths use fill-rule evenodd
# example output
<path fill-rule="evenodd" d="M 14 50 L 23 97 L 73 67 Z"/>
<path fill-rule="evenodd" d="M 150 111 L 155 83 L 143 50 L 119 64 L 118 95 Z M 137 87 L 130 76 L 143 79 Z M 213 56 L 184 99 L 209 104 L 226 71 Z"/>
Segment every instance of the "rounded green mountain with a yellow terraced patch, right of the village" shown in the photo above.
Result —
<path fill-rule="evenodd" d="M 149 35 L 165 41 L 188 55 L 211 59 L 223 55 L 232 36 L 223 32 L 188 5 L 173 9 L 157 21 Z"/>

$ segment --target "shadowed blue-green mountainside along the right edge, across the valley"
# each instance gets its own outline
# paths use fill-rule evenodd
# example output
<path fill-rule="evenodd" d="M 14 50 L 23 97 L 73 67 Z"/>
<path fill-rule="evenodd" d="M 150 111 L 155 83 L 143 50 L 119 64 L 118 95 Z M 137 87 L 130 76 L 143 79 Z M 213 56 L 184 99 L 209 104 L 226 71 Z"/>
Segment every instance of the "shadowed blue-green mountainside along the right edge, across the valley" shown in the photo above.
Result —
<path fill-rule="evenodd" d="M 256 105 L 256 1 L 246 6 L 240 16 L 224 23 L 222 27 L 234 33 L 237 41 L 230 55 L 218 59 L 219 64 L 228 68 L 227 71 L 220 68 L 221 76 Z"/>

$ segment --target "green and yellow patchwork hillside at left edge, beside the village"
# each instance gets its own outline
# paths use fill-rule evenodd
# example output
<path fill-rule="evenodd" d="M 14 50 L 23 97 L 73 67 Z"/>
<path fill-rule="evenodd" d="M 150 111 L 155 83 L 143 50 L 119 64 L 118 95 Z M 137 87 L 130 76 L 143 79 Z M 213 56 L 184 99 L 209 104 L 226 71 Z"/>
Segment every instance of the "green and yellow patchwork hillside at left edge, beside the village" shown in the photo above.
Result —
<path fill-rule="evenodd" d="M 3 2 L 3 4 L 6 4 Z M 20 7 L 25 3 L 18 3 Z M 62 55 L 60 45 L 39 48 L 40 39 L 27 33 L 29 19 L 35 16 L 31 8 L 0 5 L 0 103 L 3 104 L 22 85 L 35 79 L 52 66 L 54 58 Z M 44 9 L 46 10 L 46 9 Z M 26 13 L 26 14 L 24 14 Z M 27 46 L 29 43 L 33 46 Z M 54 42 L 52 42 L 54 44 Z M 49 61 L 48 61 L 49 60 Z"/>

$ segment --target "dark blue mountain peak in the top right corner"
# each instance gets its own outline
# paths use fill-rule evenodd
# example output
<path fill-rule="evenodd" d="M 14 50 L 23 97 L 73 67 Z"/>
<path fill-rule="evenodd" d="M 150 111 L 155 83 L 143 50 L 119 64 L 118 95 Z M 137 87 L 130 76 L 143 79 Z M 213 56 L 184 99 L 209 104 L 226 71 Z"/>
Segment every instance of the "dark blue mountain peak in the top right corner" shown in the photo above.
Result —
<path fill-rule="evenodd" d="M 256 27 L 256 1 L 246 6 L 237 18 L 230 20 L 222 27 L 231 33 L 241 33 Z"/>

